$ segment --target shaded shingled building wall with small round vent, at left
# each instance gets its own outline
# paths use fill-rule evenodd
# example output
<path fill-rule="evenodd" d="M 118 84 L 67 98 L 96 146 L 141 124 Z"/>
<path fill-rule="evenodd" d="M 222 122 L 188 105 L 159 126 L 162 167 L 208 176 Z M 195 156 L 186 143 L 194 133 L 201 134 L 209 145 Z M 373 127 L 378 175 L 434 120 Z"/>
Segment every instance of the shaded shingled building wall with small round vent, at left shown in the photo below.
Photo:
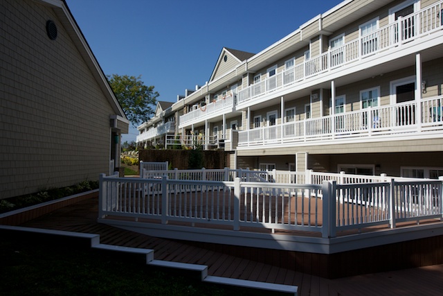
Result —
<path fill-rule="evenodd" d="M 114 172 L 129 121 L 66 3 L 0 15 L 0 199 Z"/>

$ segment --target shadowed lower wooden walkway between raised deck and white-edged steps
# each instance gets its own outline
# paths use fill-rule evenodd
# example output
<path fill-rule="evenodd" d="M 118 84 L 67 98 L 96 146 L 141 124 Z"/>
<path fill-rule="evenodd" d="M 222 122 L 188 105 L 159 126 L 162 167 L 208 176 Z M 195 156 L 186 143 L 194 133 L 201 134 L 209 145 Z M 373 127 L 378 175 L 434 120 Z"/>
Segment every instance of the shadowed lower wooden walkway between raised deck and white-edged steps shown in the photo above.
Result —
<path fill-rule="evenodd" d="M 20 225 L 100 234 L 100 243 L 153 249 L 155 259 L 208 265 L 209 275 L 298 286 L 298 295 L 441 295 L 443 290 L 443 265 L 324 279 L 244 259 L 222 249 L 208 250 L 102 225 L 97 217 L 98 198 L 89 198 Z"/>

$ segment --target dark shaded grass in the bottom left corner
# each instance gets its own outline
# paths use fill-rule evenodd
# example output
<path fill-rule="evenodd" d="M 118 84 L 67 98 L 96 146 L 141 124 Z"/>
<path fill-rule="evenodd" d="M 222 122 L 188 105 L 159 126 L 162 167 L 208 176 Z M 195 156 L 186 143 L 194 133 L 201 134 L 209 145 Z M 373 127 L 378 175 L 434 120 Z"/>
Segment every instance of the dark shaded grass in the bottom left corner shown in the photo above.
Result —
<path fill-rule="evenodd" d="M 252 295 L 156 270 L 113 252 L 4 238 L 0 241 L 0 295 Z"/>

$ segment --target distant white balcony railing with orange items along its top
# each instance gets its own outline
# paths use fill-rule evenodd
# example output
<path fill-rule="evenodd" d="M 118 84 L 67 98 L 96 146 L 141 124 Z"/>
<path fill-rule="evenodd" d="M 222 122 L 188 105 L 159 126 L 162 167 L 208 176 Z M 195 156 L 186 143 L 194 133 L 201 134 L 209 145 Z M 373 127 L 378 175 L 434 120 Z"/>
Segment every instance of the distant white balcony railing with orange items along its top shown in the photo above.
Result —
<path fill-rule="evenodd" d="M 232 110 L 234 102 L 234 97 L 232 95 L 228 95 L 204 106 L 195 105 L 195 110 L 192 110 L 191 112 L 180 116 L 180 125 L 182 125 L 183 123 L 188 123 L 190 121 L 195 121 L 197 119 L 200 120 L 206 118 L 208 117 L 208 115 L 212 115 L 218 112 Z"/>

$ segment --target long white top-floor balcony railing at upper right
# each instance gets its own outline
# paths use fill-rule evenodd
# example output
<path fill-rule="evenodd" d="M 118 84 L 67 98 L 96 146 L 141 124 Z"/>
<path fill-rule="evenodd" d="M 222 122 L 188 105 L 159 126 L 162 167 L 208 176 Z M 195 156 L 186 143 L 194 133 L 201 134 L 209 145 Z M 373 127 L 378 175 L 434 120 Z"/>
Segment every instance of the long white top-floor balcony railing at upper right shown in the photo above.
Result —
<path fill-rule="evenodd" d="M 311 76 L 331 71 L 344 64 L 361 60 L 374 53 L 410 42 L 443 28 L 443 1 L 429 6 L 407 17 L 399 18 L 377 31 L 330 49 L 301 64 L 250 85 L 238 93 L 238 103 L 244 103 L 257 96 L 273 92 L 305 80 Z"/>

